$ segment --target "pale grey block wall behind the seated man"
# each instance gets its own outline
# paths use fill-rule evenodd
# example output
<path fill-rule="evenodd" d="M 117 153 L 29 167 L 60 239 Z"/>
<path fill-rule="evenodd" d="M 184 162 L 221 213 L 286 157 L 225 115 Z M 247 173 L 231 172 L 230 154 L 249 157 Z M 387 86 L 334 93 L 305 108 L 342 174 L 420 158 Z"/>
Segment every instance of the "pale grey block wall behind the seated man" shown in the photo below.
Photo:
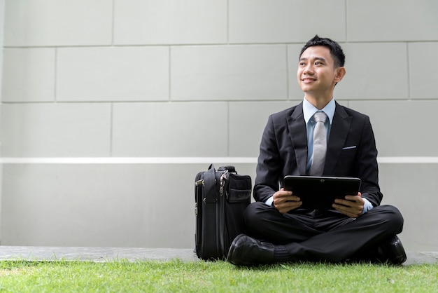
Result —
<path fill-rule="evenodd" d="M 435 0 L 6 0 L 2 245 L 193 247 L 195 175 L 255 178 L 267 116 L 302 100 L 299 49 L 341 43 L 383 203 L 438 250 Z M 397 123 L 401 128 L 395 129 Z"/>

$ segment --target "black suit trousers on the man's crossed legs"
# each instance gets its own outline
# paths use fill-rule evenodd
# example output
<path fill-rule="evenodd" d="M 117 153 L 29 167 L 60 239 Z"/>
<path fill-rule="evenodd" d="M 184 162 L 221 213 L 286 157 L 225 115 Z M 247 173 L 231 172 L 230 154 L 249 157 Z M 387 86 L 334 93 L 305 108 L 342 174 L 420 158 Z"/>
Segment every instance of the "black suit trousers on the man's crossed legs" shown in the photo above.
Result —
<path fill-rule="evenodd" d="M 264 203 L 251 203 L 243 214 L 248 236 L 285 245 L 291 259 L 345 261 L 367 259 L 383 240 L 403 229 L 392 205 L 372 208 L 358 218 L 334 210 L 298 209 L 283 215 Z"/>

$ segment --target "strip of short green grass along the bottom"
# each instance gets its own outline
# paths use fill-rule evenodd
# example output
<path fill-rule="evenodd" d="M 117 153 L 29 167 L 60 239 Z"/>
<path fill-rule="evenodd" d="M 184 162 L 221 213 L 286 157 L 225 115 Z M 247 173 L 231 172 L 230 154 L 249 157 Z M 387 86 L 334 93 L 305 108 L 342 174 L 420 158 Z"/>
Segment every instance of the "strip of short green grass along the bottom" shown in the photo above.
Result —
<path fill-rule="evenodd" d="M 0 261 L 0 292 L 438 292 L 438 264 Z"/>

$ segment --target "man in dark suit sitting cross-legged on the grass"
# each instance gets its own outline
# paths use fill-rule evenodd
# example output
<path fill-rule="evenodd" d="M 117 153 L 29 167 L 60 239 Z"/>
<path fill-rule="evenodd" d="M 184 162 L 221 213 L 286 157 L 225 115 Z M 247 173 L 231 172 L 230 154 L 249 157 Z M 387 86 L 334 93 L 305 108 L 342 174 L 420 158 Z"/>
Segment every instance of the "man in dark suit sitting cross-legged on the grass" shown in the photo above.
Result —
<path fill-rule="evenodd" d="M 346 74 L 344 60 L 341 46 L 331 39 L 315 36 L 302 48 L 297 78 L 304 100 L 269 116 L 260 143 L 256 202 L 243 214 L 248 235 L 234 239 L 228 253 L 232 264 L 406 260 L 396 236 L 403 217 L 397 208 L 380 205 L 369 117 L 333 98 L 334 86 Z M 325 124 L 318 132 L 325 132 L 326 139 L 322 155 L 316 148 L 320 139 L 313 137 L 319 119 L 315 117 L 321 112 Z M 317 161 L 322 164 L 319 168 Z M 358 194 L 335 200 L 333 210 L 308 210 L 300 207 L 302 201 L 292 191 L 282 188 L 285 175 L 358 177 L 362 184 Z"/>

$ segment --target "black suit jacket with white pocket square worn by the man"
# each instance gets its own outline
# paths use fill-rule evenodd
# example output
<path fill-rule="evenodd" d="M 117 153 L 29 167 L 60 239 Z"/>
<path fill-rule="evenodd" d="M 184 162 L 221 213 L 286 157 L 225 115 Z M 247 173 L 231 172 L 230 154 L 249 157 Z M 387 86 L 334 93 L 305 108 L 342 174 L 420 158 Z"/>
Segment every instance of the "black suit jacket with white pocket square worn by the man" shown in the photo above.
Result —
<path fill-rule="evenodd" d="M 369 117 L 336 103 L 323 176 L 358 177 L 360 192 L 379 205 L 377 149 Z M 260 143 L 254 198 L 265 201 L 281 186 L 285 175 L 306 175 L 307 136 L 302 102 L 269 116 Z"/>

